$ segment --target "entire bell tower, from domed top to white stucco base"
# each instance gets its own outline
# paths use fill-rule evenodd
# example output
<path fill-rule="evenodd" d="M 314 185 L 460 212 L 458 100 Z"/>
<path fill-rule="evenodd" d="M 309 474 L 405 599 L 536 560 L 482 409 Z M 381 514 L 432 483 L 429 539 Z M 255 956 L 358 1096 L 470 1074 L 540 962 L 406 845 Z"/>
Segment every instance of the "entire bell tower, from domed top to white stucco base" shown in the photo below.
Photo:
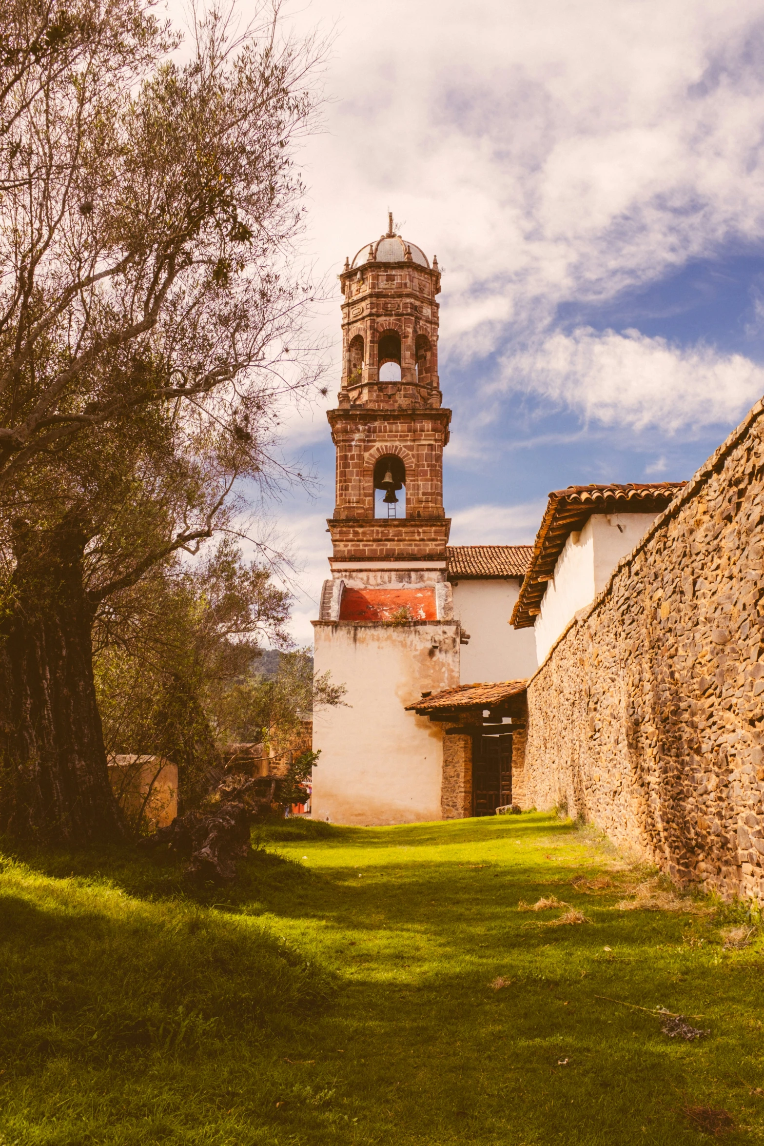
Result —
<path fill-rule="evenodd" d="M 459 681 L 458 622 L 447 581 L 450 520 L 443 447 L 451 411 L 438 378 L 440 270 L 394 233 L 339 275 L 342 378 L 328 414 L 337 497 L 331 578 L 315 626 L 315 670 L 347 707 L 317 713 L 313 815 L 385 824 L 441 816 L 442 741 L 405 713 Z M 384 499 L 383 499 L 384 493 Z"/>

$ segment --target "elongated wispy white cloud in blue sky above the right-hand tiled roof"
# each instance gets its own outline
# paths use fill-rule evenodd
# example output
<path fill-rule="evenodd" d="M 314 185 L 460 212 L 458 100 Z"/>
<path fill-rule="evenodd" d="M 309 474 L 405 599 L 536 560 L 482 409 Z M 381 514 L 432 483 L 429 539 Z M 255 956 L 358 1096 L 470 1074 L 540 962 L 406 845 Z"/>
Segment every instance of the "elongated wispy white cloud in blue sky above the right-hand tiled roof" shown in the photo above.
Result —
<path fill-rule="evenodd" d="M 764 368 L 710 346 L 638 330 L 557 331 L 502 363 L 505 385 L 573 407 L 589 422 L 675 434 L 734 422 L 764 393 Z"/>

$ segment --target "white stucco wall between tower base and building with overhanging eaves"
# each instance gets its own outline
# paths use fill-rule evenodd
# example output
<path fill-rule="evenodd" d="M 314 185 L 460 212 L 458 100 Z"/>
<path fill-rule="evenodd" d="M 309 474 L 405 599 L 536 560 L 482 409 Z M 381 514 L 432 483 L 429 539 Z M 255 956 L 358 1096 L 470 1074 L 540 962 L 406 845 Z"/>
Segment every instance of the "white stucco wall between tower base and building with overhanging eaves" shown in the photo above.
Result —
<path fill-rule="evenodd" d="M 518 681 L 536 669 L 533 629 L 513 629 L 510 622 L 520 591 L 519 579 L 457 580 L 454 615 L 470 634 L 462 645 L 460 683 Z"/>

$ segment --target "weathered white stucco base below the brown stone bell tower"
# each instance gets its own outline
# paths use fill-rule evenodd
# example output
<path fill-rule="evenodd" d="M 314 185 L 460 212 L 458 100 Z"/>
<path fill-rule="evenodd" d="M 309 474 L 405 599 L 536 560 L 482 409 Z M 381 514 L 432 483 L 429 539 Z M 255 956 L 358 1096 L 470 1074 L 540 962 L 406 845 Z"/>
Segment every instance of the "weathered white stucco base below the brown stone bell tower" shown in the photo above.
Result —
<path fill-rule="evenodd" d="M 349 707 L 316 712 L 314 819 L 404 824 L 441 818 L 440 724 L 407 713 L 423 692 L 459 683 L 459 627 L 316 622 L 314 667 Z"/>

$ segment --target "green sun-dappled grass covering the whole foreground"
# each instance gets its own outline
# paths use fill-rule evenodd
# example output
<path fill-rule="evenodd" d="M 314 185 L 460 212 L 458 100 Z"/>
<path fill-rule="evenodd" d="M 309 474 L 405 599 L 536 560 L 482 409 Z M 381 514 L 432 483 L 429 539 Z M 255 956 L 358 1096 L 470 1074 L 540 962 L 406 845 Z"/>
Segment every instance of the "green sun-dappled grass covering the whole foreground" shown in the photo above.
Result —
<path fill-rule="evenodd" d="M 762 941 L 722 947 L 745 906 L 619 910 L 645 873 L 535 814 L 260 843 L 222 892 L 129 850 L 7 854 L 1 1146 L 710 1141 L 685 1106 L 764 1143 Z M 589 921 L 518 910 L 542 896 Z"/>

